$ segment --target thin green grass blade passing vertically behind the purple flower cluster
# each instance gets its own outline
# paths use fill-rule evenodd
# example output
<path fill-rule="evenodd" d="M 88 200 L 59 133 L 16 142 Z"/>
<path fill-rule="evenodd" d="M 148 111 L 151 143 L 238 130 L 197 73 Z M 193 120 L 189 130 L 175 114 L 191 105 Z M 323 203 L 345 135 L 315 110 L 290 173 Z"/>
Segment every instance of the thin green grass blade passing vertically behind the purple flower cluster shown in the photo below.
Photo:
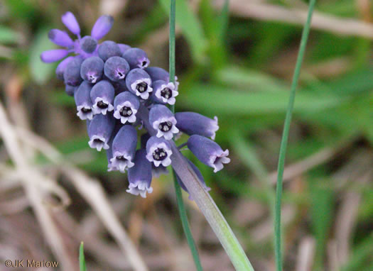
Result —
<path fill-rule="evenodd" d="M 175 0 L 171 0 L 171 10 L 170 10 L 170 44 L 169 44 L 169 72 L 170 72 L 170 82 L 175 82 L 175 18 L 176 17 L 176 10 L 175 10 Z M 175 105 L 171 106 L 171 111 L 175 113 Z M 188 216 L 185 211 L 185 206 L 183 202 L 183 197 L 181 194 L 180 184 L 176 179 L 175 171 L 173 171 L 173 182 L 175 184 L 175 194 L 176 194 L 176 201 L 178 203 L 178 210 L 180 214 L 181 224 L 183 225 L 183 230 L 185 233 L 185 237 L 187 239 L 190 252 L 192 253 L 193 260 L 195 262 L 195 267 L 198 271 L 202 271 L 202 265 L 200 262 L 200 256 L 198 255 L 198 250 L 195 246 L 195 242 L 193 240 L 192 232 L 190 231 L 189 223 L 188 223 Z"/>

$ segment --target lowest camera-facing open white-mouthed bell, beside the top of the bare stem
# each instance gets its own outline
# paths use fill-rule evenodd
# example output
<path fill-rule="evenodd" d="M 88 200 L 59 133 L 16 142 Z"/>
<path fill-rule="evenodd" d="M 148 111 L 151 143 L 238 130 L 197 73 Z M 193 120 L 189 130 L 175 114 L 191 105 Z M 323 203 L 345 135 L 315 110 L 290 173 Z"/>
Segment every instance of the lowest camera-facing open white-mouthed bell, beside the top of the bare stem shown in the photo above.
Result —
<path fill-rule="evenodd" d="M 152 136 L 146 143 L 146 158 L 149 162 L 153 162 L 156 167 L 163 165 L 168 167 L 171 165 L 171 145 L 164 138 Z"/>

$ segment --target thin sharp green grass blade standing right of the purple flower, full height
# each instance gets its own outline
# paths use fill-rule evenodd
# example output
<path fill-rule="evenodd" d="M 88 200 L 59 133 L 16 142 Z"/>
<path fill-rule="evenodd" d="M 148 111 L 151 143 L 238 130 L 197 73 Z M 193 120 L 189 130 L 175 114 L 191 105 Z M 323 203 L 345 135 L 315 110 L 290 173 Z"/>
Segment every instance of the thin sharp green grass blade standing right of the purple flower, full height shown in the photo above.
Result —
<path fill-rule="evenodd" d="M 275 204 L 275 255 L 276 255 L 276 270 L 282 270 L 282 253 L 281 253 L 281 197 L 282 197 L 282 179 L 283 167 L 285 165 L 286 148 L 288 145 L 288 134 L 291 123 L 291 115 L 293 114 L 294 101 L 296 98 L 296 87 L 298 85 L 299 74 L 301 73 L 301 66 L 303 62 L 304 52 L 306 50 L 308 33 L 310 33 L 310 22 L 312 18 L 313 8 L 315 7 L 316 0 L 310 0 L 308 7 L 308 16 L 306 24 L 303 28 L 301 46 L 299 48 L 298 57 L 296 60 L 296 68 L 293 74 L 293 82 L 291 83 L 291 92 L 288 101 L 288 109 L 286 111 L 285 123 L 283 125 L 283 134 L 281 138 L 281 147 L 279 154 L 279 165 L 277 168 L 277 186 L 276 186 L 276 204 Z"/>

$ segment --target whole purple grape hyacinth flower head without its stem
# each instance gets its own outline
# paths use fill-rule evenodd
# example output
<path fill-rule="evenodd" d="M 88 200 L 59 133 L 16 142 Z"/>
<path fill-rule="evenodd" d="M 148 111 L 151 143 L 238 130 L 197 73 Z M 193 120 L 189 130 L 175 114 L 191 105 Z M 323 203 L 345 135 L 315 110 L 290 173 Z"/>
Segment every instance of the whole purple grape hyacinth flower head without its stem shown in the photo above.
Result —
<path fill-rule="evenodd" d="M 190 136 L 182 145 L 188 145 L 214 172 L 229 162 L 229 151 L 213 141 L 219 128 L 217 118 L 194 112 L 173 114 L 167 105 L 175 104 L 178 82 L 170 82 L 166 70 L 148 67 L 144 50 L 111 40 L 98 43 L 112 28 L 111 16 L 99 17 L 91 35 L 84 37 L 71 12 L 65 13 L 62 21 L 77 39 L 72 40 L 65 31 L 51 30 L 50 40 L 66 49 L 45 51 L 41 60 L 62 60 L 55 72 L 64 81 L 65 92 L 74 96 L 77 116 L 87 121 L 88 143 L 91 148 L 106 150 L 109 171 L 128 171 L 127 192 L 146 197 L 146 192 L 153 191 L 153 175 L 166 173 L 173 152 L 180 149 L 172 148 L 173 138 L 180 132 Z M 198 167 L 190 160 L 188 163 L 208 191 Z M 188 192 L 180 178 L 178 181 Z"/>

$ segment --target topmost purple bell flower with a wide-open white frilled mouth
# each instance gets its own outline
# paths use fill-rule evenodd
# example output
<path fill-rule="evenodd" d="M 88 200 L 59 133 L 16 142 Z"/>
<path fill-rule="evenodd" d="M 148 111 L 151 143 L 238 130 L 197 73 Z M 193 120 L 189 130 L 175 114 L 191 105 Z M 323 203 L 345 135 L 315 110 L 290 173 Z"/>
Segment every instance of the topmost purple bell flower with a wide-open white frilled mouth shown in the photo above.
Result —
<path fill-rule="evenodd" d="M 126 76 L 126 87 L 130 92 L 144 100 L 148 99 L 149 94 L 153 92 L 150 76 L 139 68 L 129 71 Z"/>

